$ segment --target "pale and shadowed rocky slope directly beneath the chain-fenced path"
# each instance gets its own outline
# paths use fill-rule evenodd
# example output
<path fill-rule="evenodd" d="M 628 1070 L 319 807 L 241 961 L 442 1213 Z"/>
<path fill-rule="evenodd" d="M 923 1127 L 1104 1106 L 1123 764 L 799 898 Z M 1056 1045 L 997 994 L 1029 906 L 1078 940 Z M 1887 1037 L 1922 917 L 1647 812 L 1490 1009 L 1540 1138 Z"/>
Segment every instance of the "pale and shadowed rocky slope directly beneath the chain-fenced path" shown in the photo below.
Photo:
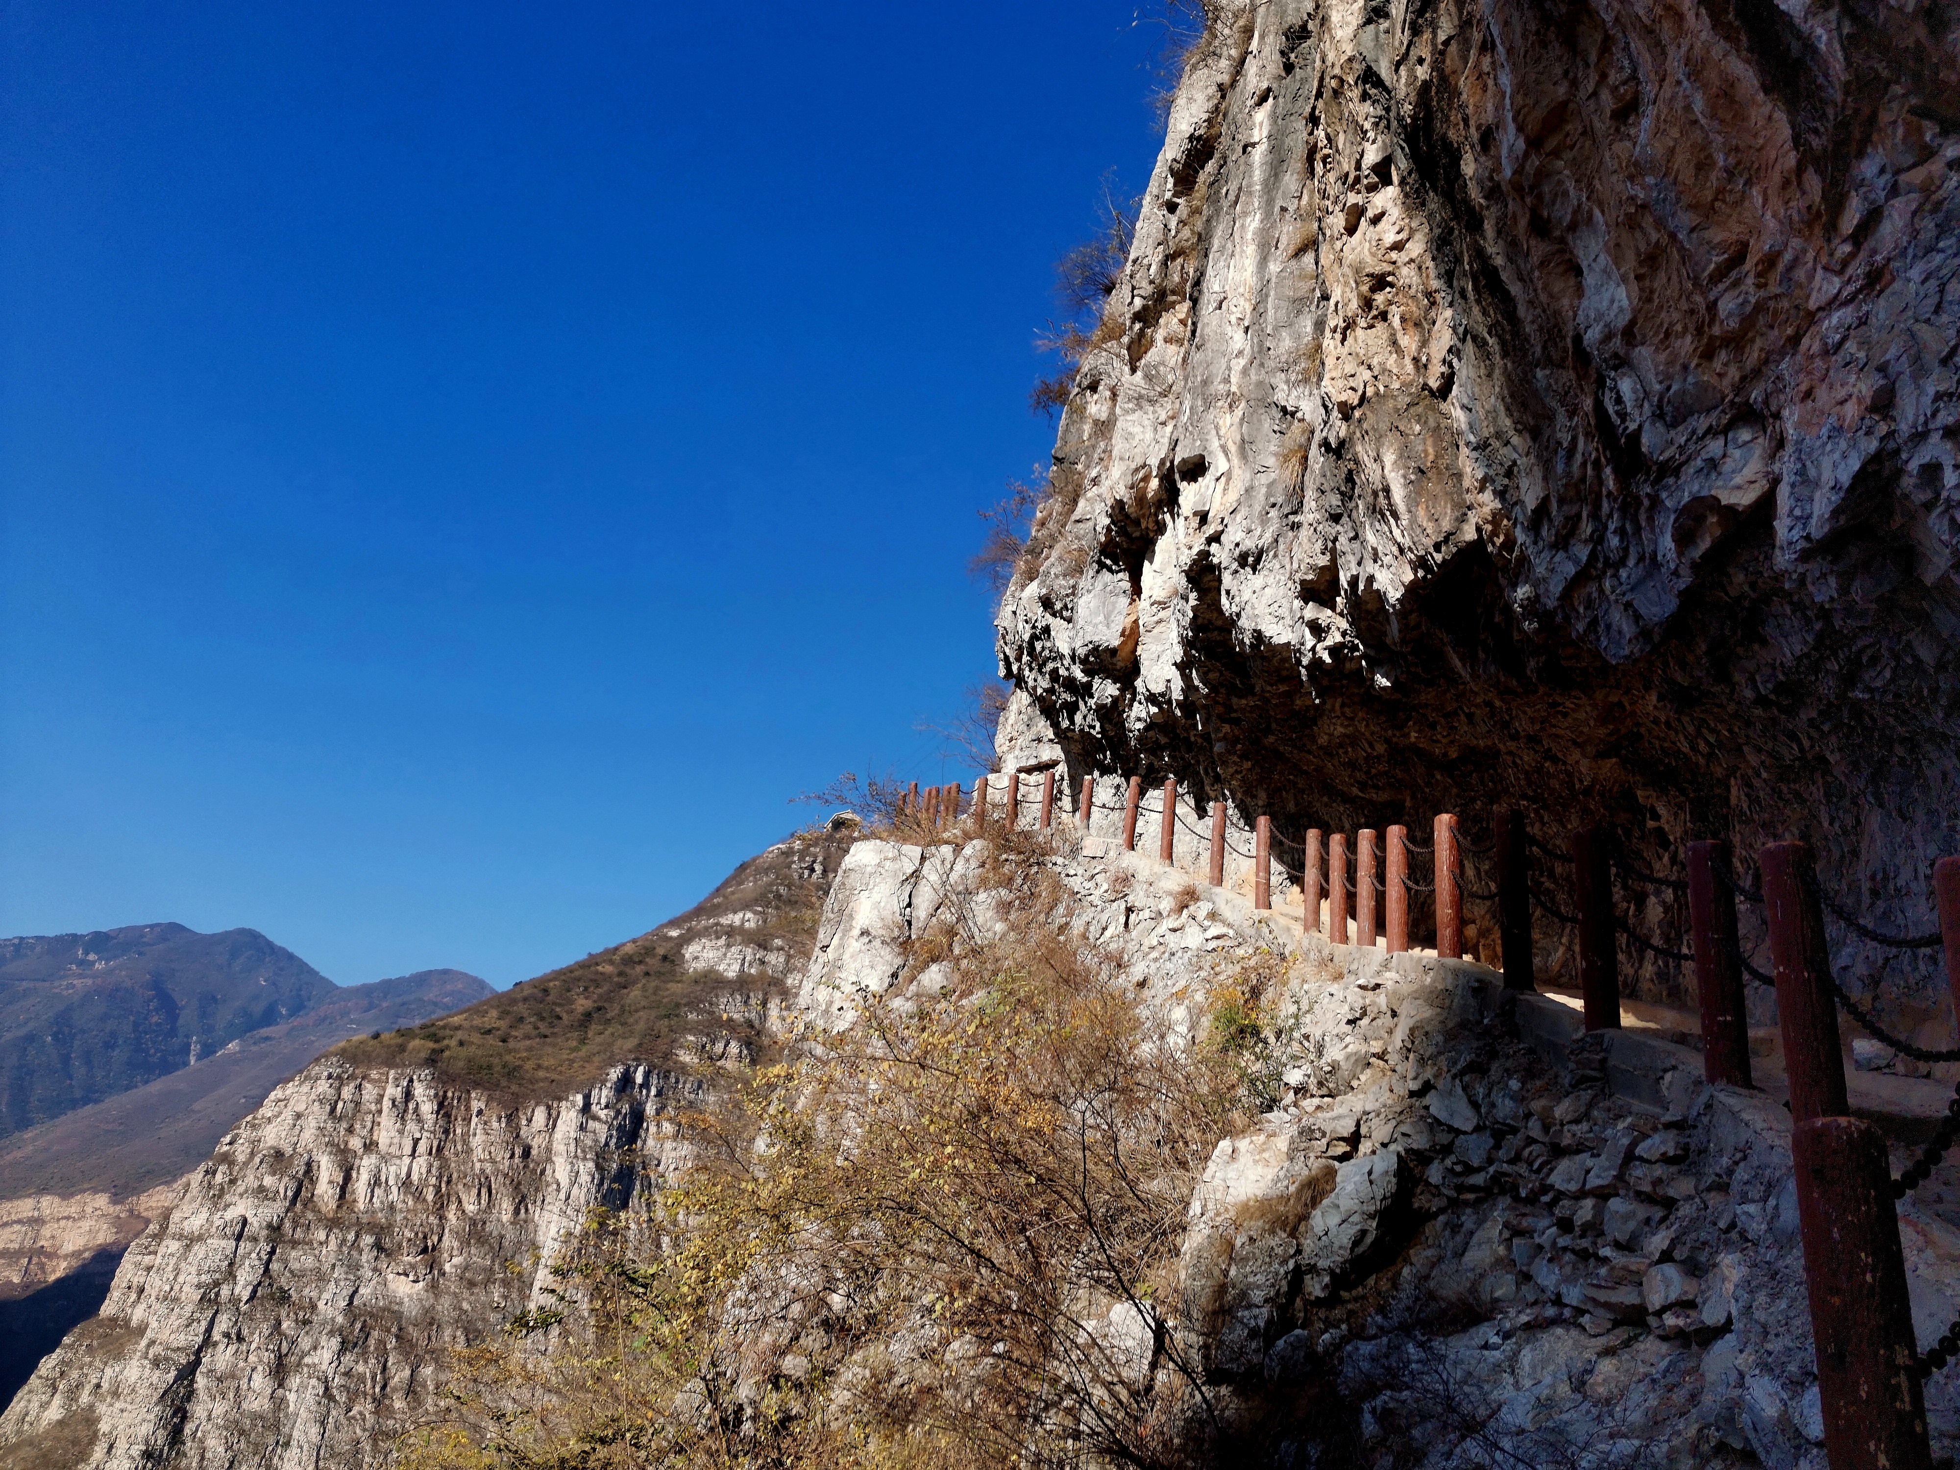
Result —
<path fill-rule="evenodd" d="M 1086 847 L 1049 858 L 1074 927 L 1186 1037 L 1239 966 L 1288 960 L 1266 1000 L 1274 1107 L 1217 1145 L 1192 1196 L 1176 1317 L 1125 1301 L 1092 1325 L 1158 1394 L 1178 1386 L 1174 1360 L 1198 1364 L 1200 1458 L 1823 1470 L 1789 1119 L 1772 1098 L 1707 1088 L 1701 1056 L 1660 1027 L 1586 1037 L 1572 1005 L 1507 994 L 1480 964 L 1329 945 L 1231 886 Z M 860 843 L 798 1013 L 841 1029 L 874 996 L 931 994 L 907 945 L 949 911 L 986 927 L 990 860 L 984 845 Z M 1774 1058 L 1760 1066 L 1774 1078 Z M 1923 1131 L 1942 1090 L 1919 1086 L 1913 1119 L 1899 1098 L 1862 1105 Z M 1901 1205 L 1921 1345 L 1960 1311 L 1956 1182 L 1942 1166 Z M 878 1360 L 929 1382 L 935 1343 L 921 1325 Z M 1950 1452 L 1960 1396 L 1940 1378 L 1927 1394 Z"/>

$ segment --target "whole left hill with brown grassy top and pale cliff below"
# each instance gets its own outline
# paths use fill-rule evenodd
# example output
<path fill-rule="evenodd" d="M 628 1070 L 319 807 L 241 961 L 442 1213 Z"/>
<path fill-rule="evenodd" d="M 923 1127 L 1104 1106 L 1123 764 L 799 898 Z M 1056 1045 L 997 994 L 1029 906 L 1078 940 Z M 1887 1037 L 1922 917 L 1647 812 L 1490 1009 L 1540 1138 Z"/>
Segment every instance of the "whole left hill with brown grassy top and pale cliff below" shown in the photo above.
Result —
<path fill-rule="evenodd" d="M 684 1166 L 674 1113 L 755 1053 L 845 847 L 778 843 L 639 939 L 274 1088 L 0 1415 L 0 1470 L 390 1464 L 586 1211 Z"/>

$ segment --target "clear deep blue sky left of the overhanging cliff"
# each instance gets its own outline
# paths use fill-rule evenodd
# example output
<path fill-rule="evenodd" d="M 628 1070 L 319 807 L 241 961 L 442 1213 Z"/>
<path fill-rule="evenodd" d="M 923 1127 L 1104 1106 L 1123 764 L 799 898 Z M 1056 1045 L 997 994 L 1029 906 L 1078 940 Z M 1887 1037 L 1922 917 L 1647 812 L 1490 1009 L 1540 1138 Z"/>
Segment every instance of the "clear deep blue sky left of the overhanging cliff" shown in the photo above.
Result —
<path fill-rule="evenodd" d="M 0 933 L 353 984 L 953 778 L 1135 0 L 0 12 Z"/>

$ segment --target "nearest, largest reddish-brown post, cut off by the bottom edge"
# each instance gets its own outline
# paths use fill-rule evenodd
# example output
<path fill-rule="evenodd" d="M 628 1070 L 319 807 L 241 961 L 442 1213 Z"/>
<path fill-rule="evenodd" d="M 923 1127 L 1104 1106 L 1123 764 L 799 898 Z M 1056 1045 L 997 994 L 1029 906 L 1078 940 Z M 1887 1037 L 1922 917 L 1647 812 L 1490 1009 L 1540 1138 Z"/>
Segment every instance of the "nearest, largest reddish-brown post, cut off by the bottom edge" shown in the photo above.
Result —
<path fill-rule="evenodd" d="M 1809 1117 L 1789 1152 L 1825 1454 L 1833 1470 L 1931 1470 L 1886 1139 L 1856 1117 Z"/>

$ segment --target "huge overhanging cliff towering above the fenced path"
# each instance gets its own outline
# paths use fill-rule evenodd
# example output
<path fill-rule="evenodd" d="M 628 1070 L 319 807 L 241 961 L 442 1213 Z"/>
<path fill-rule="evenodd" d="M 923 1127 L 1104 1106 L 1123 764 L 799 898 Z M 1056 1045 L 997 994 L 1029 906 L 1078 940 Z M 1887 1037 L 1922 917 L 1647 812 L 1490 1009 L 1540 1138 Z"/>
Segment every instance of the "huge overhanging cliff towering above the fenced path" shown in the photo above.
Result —
<path fill-rule="evenodd" d="M 1301 827 L 1805 835 L 1925 929 L 1956 127 L 1925 4 L 1223 6 L 1000 612 L 1005 727 Z"/>

